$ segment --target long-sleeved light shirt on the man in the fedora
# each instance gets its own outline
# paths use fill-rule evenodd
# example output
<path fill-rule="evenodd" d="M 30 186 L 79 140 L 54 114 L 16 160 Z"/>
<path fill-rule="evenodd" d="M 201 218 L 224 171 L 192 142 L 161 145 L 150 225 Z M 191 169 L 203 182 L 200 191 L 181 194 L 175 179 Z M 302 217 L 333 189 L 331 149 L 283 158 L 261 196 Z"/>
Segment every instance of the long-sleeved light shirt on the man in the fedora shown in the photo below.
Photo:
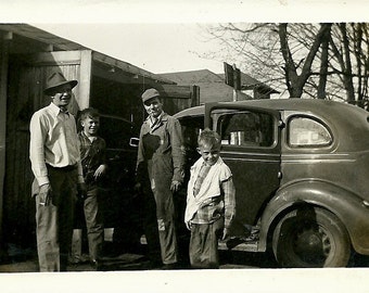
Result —
<path fill-rule="evenodd" d="M 51 103 L 30 119 L 29 158 L 39 186 L 49 183 L 47 165 L 66 167 L 78 164 L 78 181 L 84 182 L 76 122 Z"/>

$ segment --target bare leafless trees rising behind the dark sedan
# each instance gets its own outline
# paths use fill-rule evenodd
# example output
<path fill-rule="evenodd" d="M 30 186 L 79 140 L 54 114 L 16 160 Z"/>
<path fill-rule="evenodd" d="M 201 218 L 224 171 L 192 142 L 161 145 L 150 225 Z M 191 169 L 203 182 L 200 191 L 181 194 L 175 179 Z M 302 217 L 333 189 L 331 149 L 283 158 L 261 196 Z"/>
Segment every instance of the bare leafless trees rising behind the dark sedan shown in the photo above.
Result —
<path fill-rule="evenodd" d="M 368 24 L 220 24 L 208 28 L 232 62 L 290 97 L 368 104 Z"/>

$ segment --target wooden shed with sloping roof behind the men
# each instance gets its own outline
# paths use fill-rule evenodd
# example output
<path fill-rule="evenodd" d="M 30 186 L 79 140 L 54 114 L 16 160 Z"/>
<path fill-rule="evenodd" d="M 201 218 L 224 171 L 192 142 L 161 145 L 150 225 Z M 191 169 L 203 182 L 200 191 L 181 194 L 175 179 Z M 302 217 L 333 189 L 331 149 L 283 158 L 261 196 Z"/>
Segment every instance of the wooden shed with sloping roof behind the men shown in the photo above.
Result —
<path fill-rule="evenodd" d="M 140 95 L 154 87 L 169 114 L 199 103 L 199 89 L 93 51 L 26 24 L 0 24 L 0 245 L 35 241 L 30 198 L 29 120 L 51 101 L 48 76 L 60 71 L 77 79 L 69 111 L 88 106 L 140 125 Z M 1 247 L 0 247 L 1 249 Z"/>

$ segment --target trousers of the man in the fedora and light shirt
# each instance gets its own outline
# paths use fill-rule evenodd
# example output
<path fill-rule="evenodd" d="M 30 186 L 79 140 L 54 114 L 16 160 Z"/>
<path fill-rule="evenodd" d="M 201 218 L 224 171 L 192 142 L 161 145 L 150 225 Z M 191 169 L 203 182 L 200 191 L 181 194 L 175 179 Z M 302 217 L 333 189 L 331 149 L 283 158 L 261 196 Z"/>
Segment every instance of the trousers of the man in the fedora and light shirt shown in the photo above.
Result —
<path fill-rule="evenodd" d="M 36 193 L 36 234 L 40 271 L 66 270 L 71 252 L 74 208 L 77 194 L 77 169 L 48 167 L 52 202 L 39 204 Z M 34 182 L 37 186 L 37 181 Z"/>

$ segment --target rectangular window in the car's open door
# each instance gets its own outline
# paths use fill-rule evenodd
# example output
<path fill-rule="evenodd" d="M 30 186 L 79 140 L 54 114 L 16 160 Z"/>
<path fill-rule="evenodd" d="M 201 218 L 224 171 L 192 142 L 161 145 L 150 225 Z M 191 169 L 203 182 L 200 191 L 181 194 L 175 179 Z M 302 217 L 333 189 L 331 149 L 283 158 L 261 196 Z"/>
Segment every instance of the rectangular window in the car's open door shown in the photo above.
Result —
<path fill-rule="evenodd" d="M 218 119 L 221 144 L 239 146 L 271 146 L 273 118 L 266 113 L 236 112 L 222 114 Z"/>

